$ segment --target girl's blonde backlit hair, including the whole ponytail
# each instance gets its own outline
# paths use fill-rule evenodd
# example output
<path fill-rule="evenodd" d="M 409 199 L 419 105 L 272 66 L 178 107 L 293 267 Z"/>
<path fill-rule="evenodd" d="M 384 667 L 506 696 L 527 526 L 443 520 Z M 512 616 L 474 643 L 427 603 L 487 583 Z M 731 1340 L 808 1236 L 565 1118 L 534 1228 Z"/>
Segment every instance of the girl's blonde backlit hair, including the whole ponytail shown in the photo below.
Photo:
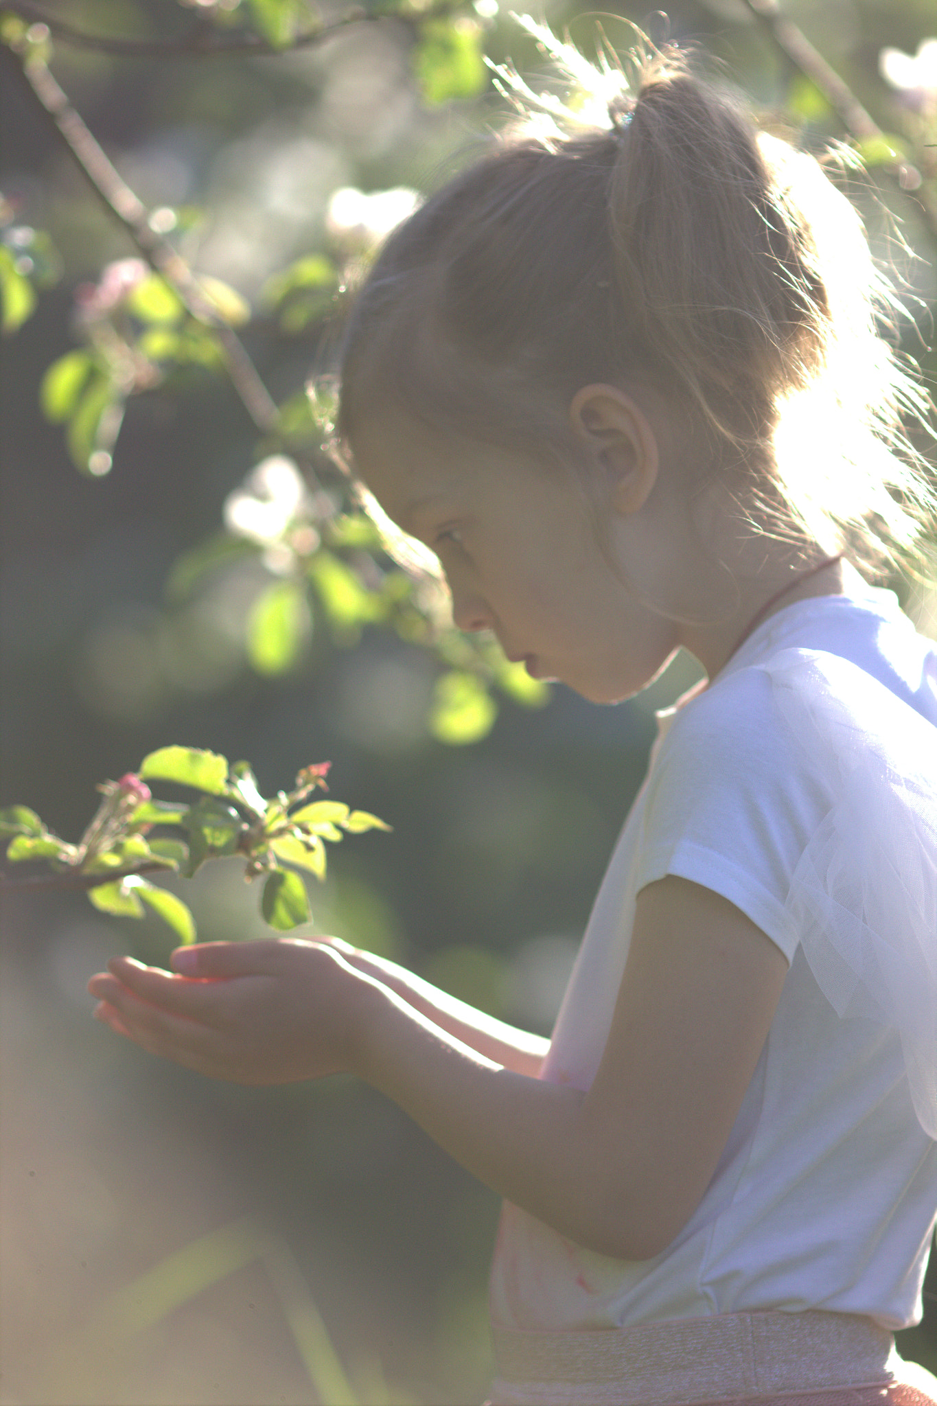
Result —
<path fill-rule="evenodd" d="M 937 498 L 903 425 L 927 402 L 879 335 L 898 304 L 850 201 L 679 51 L 625 73 L 528 28 L 579 108 L 499 70 L 525 121 L 385 245 L 346 333 L 340 434 L 393 406 L 562 460 L 576 389 L 631 380 L 749 465 L 773 531 L 867 565 L 913 548 Z"/>

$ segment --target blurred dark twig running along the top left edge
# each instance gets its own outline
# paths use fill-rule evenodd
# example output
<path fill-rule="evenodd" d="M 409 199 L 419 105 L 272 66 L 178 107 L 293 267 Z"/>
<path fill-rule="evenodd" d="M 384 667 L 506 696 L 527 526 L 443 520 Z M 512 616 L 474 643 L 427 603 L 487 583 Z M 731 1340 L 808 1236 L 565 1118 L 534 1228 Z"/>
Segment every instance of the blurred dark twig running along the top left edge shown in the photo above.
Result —
<path fill-rule="evenodd" d="M 25 20 L 28 24 L 44 24 L 53 39 L 59 44 L 77 49 L 91 49 L 96 53 L 111 53 L 124 59 L 211 59 L 219 55 L 247 55 L 264 56 L 288 53 L 291 49 L 306 49 L 350 24 L 376 22 L 381 20 L 399 20 L 402 24 L 423 25 L 427 20 L 438 20 L 465 8 L 465 0 L 437 0 L 435 4 L 413 14 L 398 13 L 369 13 L 362 6 L 351 6 L 339 20 L 330 24 L 317 24 L 312 30 L 303 30 L 292 35 L 288 44 L 270 44 L 263 35 L 250 30 L 236 30 L 225 34 L 212 24 L 201 20 L 190 25 L 176 39 L 125 39 L 118 35 L 90 34 L 74 24 L 59 20 L 58 15 L 46 11 L 31 0 L 4 0 L 3 8 Z"/>

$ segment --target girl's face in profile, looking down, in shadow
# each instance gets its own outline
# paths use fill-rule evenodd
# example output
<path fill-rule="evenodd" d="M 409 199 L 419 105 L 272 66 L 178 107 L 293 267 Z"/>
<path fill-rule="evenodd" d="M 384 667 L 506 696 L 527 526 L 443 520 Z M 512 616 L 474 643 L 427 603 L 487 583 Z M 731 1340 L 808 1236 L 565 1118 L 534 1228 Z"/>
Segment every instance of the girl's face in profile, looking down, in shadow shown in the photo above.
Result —
<path fill-rule="evenodd" d="M 617 702 L 680 643 L 610 565 L 572 470 L 386 418 L 355 433 L 354 454 L 388 516 L 440 558 L 458 628 L 490 630 L 534 678 Z"/>

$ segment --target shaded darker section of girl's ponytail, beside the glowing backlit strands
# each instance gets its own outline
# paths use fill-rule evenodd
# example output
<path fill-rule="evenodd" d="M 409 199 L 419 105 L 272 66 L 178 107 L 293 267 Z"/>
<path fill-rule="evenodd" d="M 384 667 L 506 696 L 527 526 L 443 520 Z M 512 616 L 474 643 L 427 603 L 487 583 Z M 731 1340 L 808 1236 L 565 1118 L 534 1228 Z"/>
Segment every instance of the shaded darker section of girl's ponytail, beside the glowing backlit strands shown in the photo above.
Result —
<path fill-rule="evenodd" d="M 750 122 L 657 59 L 611 172 L 618 291 L 655 360 L 742 443 L 815 375 L 829 329 L 806 231 L 778 197 Z"/>

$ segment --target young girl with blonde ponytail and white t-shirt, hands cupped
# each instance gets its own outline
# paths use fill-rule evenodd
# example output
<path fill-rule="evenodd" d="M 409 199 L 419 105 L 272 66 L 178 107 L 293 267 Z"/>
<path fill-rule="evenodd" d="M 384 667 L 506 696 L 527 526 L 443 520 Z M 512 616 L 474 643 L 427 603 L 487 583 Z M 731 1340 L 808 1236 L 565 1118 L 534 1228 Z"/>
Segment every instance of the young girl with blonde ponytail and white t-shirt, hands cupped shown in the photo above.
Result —
<path fill-rule="evenodd" d="M 353 1071 L 503 1194 L 497 1406 L 936 1406 L 892 1331 L 937 1216 L 937 648 L 847 561 L 933 508 L 915 395 L 820 167 L 677 53 L 631 93 L 399 228 L 343 366 L 462 630 L 597 703 L 679 647 L 708 678 L 552 1040 L 329 938 L 117 957 L 96 1014 L 218 1078 Z"/>

